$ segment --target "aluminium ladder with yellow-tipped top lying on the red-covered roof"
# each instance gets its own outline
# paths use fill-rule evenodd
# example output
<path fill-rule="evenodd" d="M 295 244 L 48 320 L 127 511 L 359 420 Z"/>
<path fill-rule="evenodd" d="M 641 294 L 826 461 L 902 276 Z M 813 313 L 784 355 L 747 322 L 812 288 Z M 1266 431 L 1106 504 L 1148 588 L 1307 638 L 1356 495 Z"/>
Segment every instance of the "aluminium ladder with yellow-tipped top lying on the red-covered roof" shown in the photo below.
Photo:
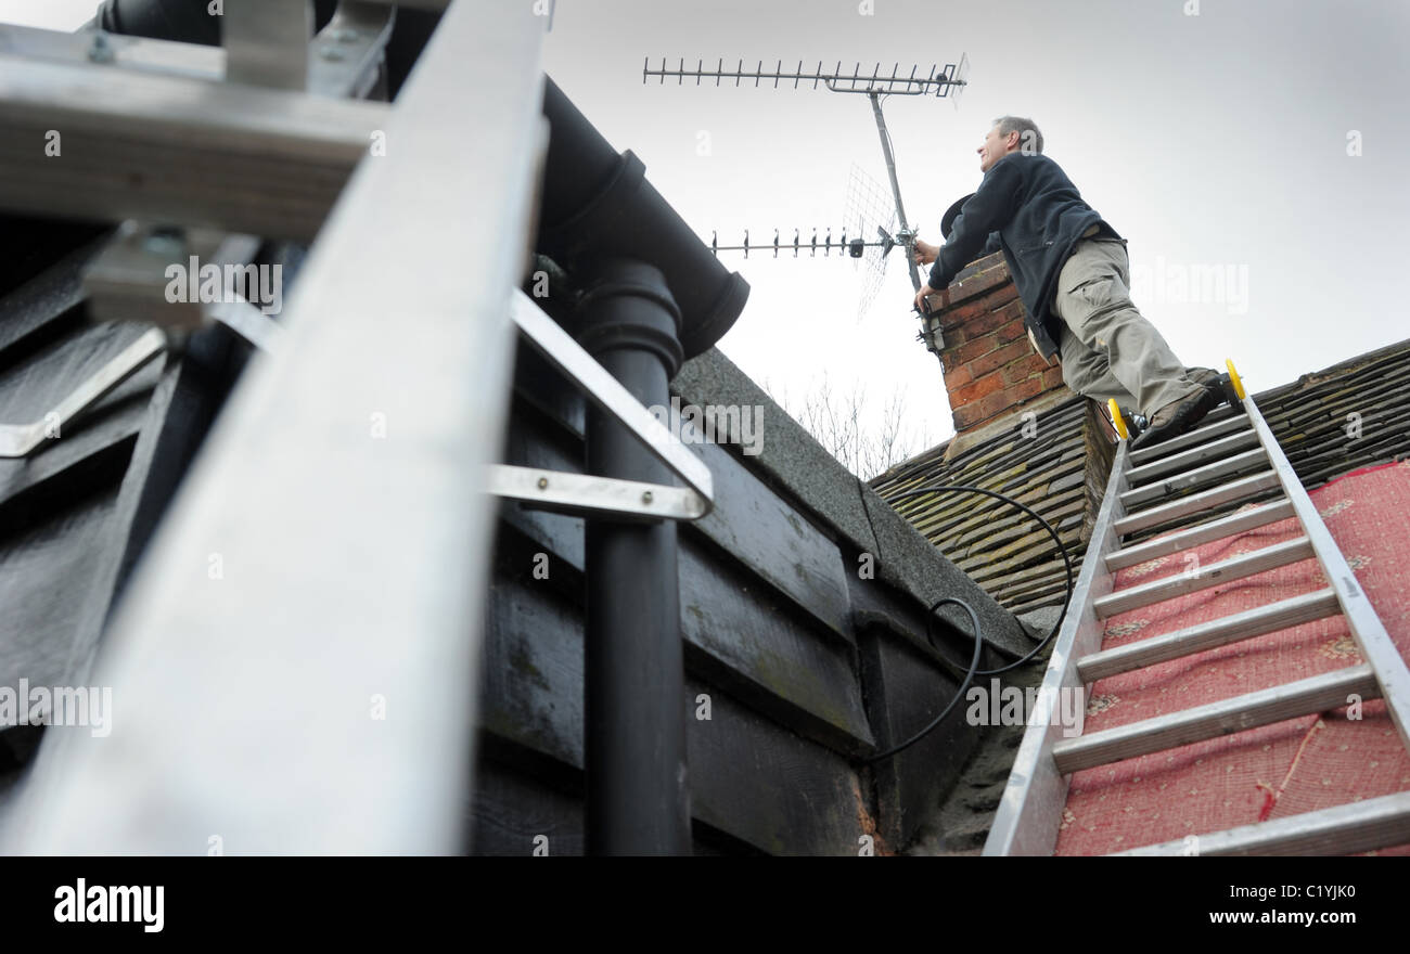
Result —
<path fill-rule="evenodd" d="M 1232 364 L 1230 365 L 1232 372 Z M 1043 689 L 1029 714 L 1018 757 L 984 844 L 986 855 L 1052 854 L 1070 774 L 1217 738 L 1347 703 L 1351 693 L 1385 699 L 1402 744 L 1410 748 L 1410 671 L 1371 600 L 1337 548 L 1306 489 L 1259 414 L 1253 399 L 1211 411 L 1196 430 L 1131 452 L 1117 447 L 1087 559 L 1053 645 Z M 1172 493 L 1190 492 L 1167 499 Z M 1198 523 L 1210 510 L 1280 490 L 1256 507 Z M 1287 517 L 1297 538 L 1149 583 L 1112 592 L 1117 571 L 1177 554 Z M 1175 530 L 1122 545 L 1127 534 Z M 1317 592 L 1101 650 L 1104 619 L 1215 583 L 1316 557 L 1328 585 Z M 1341 613 L 1363 664 L 1210 705 L 1065 738 L 1053 717 L 1063 692 L 1097 679 Z M 1084 693 L 1083 693 L 1084 698 Z M 1410 841 L 1410 792 L 1287 816 L 1122 854 L 1352 854 Z"/>

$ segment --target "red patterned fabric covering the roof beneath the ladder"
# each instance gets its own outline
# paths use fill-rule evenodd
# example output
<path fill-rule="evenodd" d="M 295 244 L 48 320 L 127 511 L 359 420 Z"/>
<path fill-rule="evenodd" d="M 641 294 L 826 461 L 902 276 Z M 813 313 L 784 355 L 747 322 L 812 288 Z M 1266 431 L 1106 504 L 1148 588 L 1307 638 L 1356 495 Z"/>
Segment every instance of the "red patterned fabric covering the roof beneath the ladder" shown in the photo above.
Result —
<path fill-rule="evenodd" d="M 1410 461 L 1363 468 L 1311 492 L 1327 528 L 1410 659 Z M 1252 506 L 1252 504 L 1251 504 Z M 1289 519 L 1117 574 L 1122 589 L 1299 535 Z M 1325 586 L 1314 559 L 1107 620 L 1104 648 Z M 1103 679 L 1083 731 L 1228 699 L 1362 662 L 1341 616 Z M 1379 700 L 1076 772 L 1056 854 L 1124 851 L 1410 789 L 1410 755 Z M 1410 845 L 1375 854 L 1410 854 Z"/>

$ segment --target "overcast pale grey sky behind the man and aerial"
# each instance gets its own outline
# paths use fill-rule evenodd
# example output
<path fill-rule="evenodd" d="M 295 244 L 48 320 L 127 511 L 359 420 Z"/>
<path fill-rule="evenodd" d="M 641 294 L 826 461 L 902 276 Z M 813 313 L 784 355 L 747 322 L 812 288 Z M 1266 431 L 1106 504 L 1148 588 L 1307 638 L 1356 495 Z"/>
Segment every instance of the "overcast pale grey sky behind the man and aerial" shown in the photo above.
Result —
<path fill-rule="evenodd" d="M 96 6 L 0 0 L 0 20 L 73 28 Z M 1032 117 L 1045 152 L 1129 241 L 1135 303 L 1175 352 L 1232 357 L 1259 390 L 1410 337 L 1393 290 L 1410 251 L 1407 41 L 1404 0 L 561 0 L 544 62 L 702 238 L 735 244 L 744 228 L 754 242 L 838 231 L 853 163 L 884 186 L 870 106 L 822 89 L 643 83 L 643 59 L 924 73 L 967 54 L 957 109 L 885 101 L 921 235 L 939 241 L 943 210 L 979 185 L 990 121 Z M 950 410 L 891 258 L 859 320 L 850 259 L 730 256 L 753 292 L 721 348 L 794 404 L 823 373 L 864 385 L 874 414 L 902 389 L 922 450 L 922 431 L 926 444 L 952 434 Z M 1170 283 L 1194 266 L 1232 282 L 1182 299 Z"/>

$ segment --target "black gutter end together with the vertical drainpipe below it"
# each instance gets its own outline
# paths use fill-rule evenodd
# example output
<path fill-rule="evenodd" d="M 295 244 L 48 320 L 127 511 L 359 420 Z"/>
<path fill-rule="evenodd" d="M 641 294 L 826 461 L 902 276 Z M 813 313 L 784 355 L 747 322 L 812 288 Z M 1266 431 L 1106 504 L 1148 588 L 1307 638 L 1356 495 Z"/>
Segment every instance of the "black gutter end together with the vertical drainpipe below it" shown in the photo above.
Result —
<path fill-rule="evenodd" d="M 749 285 L 721 264 L 550 79 L 537 249 L 588 287 L 582 345 L 646 407 L 670 403 L 682 358 L 713 347 Z M 620 426 L 591 410 L 589 473 L 674 483 Z M 587 520 L 587 848 L 689 854 L 680 576 L 674 521 Z"/>

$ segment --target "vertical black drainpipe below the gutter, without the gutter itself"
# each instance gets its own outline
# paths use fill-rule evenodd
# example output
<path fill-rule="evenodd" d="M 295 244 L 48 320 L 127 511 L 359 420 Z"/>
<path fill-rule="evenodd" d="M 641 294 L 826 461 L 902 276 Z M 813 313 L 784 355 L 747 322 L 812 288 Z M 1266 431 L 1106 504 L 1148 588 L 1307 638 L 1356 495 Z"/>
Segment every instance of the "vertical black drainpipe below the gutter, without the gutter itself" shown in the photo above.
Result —
<path fill-rule="evenodd" d="M 582 347 L 643 406 L 670 404 L 681 313 L 661 272 L 633 259 L 594 269 L 578 302 Z M 589 406 L 587 469 L 674 483 L 613 417 Z M 674 520 L 587 521 L 584 745 L 588 854 L 689 854 L 685 672 Z"/>

